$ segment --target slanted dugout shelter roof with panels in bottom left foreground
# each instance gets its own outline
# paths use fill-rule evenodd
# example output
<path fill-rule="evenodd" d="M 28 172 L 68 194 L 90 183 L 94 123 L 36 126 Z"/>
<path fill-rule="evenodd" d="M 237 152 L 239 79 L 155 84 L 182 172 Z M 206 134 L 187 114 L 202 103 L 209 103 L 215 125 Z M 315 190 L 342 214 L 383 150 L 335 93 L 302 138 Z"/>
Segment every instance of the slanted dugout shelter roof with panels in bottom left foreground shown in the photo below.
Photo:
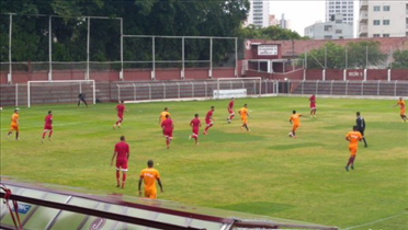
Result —
<path fill-rule="evenodd" d="M 21 183 L 8 177 L 1 179 L 1 185 L 9 189 L 0 192 L 1 229 L 18 229 L 20 225 L 21 229 L 59 230 L 337 229 L 250 214 L 191 207 L 160 199 L 120 194 L 95 195 L 79 188 Z M 13 200 L 16 202 L 15 206 Z"/>

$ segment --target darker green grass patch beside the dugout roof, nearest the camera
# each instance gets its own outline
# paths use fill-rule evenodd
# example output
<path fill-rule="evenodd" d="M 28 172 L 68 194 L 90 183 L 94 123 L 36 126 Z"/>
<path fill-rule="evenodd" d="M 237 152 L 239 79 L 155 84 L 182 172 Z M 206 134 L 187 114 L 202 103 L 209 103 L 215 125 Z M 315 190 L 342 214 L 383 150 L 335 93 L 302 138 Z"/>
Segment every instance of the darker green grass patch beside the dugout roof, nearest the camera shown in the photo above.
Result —
<path fill-rule="evenodd" d="M 284 210 L 294 208 L 294 206 L 269 203 L 269 202 L 252 202 L 252 203 L 239 203 L 239 204 L 227 205 L 227 206 L 218 206 L 216 208 L 234 210 L 234 211 L 250 212 L 250 214 L 263 215 L 263 216 L 271 216 L 271 214 L 284 211 Z"/>

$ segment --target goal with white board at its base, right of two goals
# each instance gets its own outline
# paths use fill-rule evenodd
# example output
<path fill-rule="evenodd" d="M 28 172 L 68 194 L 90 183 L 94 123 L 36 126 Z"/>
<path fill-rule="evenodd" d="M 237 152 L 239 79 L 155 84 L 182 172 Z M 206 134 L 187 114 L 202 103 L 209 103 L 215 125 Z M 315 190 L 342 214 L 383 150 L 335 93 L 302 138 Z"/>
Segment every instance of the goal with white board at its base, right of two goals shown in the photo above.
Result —
<path fill-rule="evenodd" d="M 262 78 L 218 78 L 214 99 L 260 97 L 262 94 Z"/>

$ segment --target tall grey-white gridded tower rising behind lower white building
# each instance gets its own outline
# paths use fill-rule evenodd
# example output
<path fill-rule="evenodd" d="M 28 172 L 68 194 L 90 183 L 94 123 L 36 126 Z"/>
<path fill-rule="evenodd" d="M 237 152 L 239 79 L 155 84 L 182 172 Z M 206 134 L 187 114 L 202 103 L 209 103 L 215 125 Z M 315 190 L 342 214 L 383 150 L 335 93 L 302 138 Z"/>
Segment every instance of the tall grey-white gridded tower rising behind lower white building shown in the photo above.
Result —
<path fill-rule="evenodd" d="M 336 14 L 343 16 L 343 23 L 354 25 L 354 1 L 326 0 L 326 22 L 330 22 Z"/>

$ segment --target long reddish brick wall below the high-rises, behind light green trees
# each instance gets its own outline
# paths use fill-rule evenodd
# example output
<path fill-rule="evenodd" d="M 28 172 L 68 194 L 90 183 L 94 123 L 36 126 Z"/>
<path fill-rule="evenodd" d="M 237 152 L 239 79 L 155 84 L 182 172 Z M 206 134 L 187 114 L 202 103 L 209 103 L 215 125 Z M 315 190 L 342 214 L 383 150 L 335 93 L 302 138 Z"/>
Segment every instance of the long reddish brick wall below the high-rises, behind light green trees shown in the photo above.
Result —
<path fill-rule="evenodd" d="M 282 56 L 292 57 L 298 56 L 305 50 L 317 49 L 326 43 L 336 43 L 345 46 L 348 43 L 358 43 L 362 41 L 376 41 L 381 43 L 381 51 L 383 54 L 389 53 L 390 49 L 408 49 L 408 36 L 405 37 L 371 37 L 371 38 L 348 38 L 348 39 L 295 39 L 295 41 L 265 41 L 265 39 L 251 39 L 251 43 L 261 44 L 281 44 Z M 294 54 L 293 54 L 294 53 Z"/>

